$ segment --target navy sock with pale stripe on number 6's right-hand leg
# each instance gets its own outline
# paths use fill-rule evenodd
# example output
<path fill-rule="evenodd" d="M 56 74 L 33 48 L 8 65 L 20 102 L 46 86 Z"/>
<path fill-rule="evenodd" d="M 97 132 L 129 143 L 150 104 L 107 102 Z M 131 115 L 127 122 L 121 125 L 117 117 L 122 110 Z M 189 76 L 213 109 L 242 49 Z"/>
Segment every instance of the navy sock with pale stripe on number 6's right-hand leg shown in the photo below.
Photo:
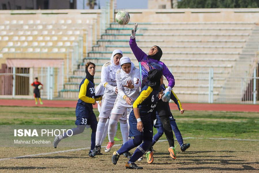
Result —
<path fill-rule="evenodd" d="M 137 161 L 141 156 L 143 156 L 143 154 L 148 150 L 148 148 L 151 147 L 151 145 L 151 141 L 144 141 L 141 145 L 137 147 L 128 163 L 134 163 L 135 161 Z"/>

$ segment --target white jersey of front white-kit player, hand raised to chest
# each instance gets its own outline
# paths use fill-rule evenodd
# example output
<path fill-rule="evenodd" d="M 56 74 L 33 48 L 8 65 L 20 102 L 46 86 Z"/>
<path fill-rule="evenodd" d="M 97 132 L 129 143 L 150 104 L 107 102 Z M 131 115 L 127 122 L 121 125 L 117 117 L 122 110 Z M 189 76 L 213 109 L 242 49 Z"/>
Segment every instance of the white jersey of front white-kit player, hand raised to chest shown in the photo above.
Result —
<path fill-rule="evenodd" d="M 140 72 L 139 72 L 139 69 L 137 69 L 133 63 L 131 63 L 131 65 L 133 66 L 133 68 L 132 68 L 130 74 L 126 74 L 125 72 L 123 72 L 122 69 L 120 69 L 116 72 L 116 82 L 117 82 L 117 88 L 118 88 L 117 99 L 122 104 L 126 104 L 126 105 L 128 105 L 128 104 L 123 99 L 123 97 L 125 95 L 127 97 L 130 97 L 131 99 L 133 99 L 133 101 L 131 102 L 132 104 L 139 96 Z M 129 88 L 123 86 L 123 85 L 126 85 L 127 81 L 130 81 L 130 80 L 132 83 L 134 83 L 133 89 L 129 89 Z"/>

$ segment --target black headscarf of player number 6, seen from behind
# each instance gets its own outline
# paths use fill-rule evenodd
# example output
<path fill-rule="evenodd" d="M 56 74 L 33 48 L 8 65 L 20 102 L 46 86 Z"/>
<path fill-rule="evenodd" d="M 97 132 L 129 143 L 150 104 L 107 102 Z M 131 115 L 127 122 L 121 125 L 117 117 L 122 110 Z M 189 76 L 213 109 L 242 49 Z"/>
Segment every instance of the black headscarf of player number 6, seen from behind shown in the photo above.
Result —
<path fill-rule="evenodd" d="M 148 72 L 148 86 L 158 90 L 160 87 L 160 79 L 162 77 L 162 72 L 158 69 L 152 69 Z"/>

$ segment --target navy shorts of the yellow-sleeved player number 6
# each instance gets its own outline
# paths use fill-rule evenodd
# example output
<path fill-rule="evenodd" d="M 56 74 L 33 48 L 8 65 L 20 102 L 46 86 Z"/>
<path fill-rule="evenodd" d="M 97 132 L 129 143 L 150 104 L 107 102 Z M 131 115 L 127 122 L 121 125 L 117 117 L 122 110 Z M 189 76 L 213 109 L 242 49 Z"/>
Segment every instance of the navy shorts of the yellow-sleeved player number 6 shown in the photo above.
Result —
<path fill-rule="evenodd" d="M 141 119 L 143 123 L 143 131 L 140 132 L 137 129 L 137 119 L 135 118 L 133 110 L 131 111 L 129 115 L 129 125 L 130 125 L 130 131 L 129 131 L 129 137 L 133 136 L 143 136 L 143 140 L 149 140 L 152 141 L 153 138 L 153 122 L 151 122 L 151 119 Z"/>

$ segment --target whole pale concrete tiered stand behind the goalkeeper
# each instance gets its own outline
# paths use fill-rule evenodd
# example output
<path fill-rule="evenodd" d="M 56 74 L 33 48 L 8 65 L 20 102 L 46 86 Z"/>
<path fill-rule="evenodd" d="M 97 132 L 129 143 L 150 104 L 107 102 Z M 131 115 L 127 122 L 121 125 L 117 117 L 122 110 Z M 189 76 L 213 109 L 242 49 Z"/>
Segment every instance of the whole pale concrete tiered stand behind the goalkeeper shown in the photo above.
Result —
<path fill-rule="evenodd" d="M 132 26 L 133 23 L 124 26 L 111 23 L 64 85 L 62 98 L 77 99 L 79 84 L 85 76 L 84 64 L 88 61 L 96 64 L 94 81 L 99 84 L 101 67 L 110 60 L 114 49 L 121 49 L 123 56 L 130 57 L 138 67 L 128 44 Z M 153 45 L 163 50 L 161 61 L 174 75 L 174 91 L 181 101 L 207 102 L 209 68 L 214 69 L 214 100 L 217 100 L 237 60 L 246 54 L 244 48 L 255 26 L 249 22 L 139 23 L 136 40 L 144 52 Z"/>

